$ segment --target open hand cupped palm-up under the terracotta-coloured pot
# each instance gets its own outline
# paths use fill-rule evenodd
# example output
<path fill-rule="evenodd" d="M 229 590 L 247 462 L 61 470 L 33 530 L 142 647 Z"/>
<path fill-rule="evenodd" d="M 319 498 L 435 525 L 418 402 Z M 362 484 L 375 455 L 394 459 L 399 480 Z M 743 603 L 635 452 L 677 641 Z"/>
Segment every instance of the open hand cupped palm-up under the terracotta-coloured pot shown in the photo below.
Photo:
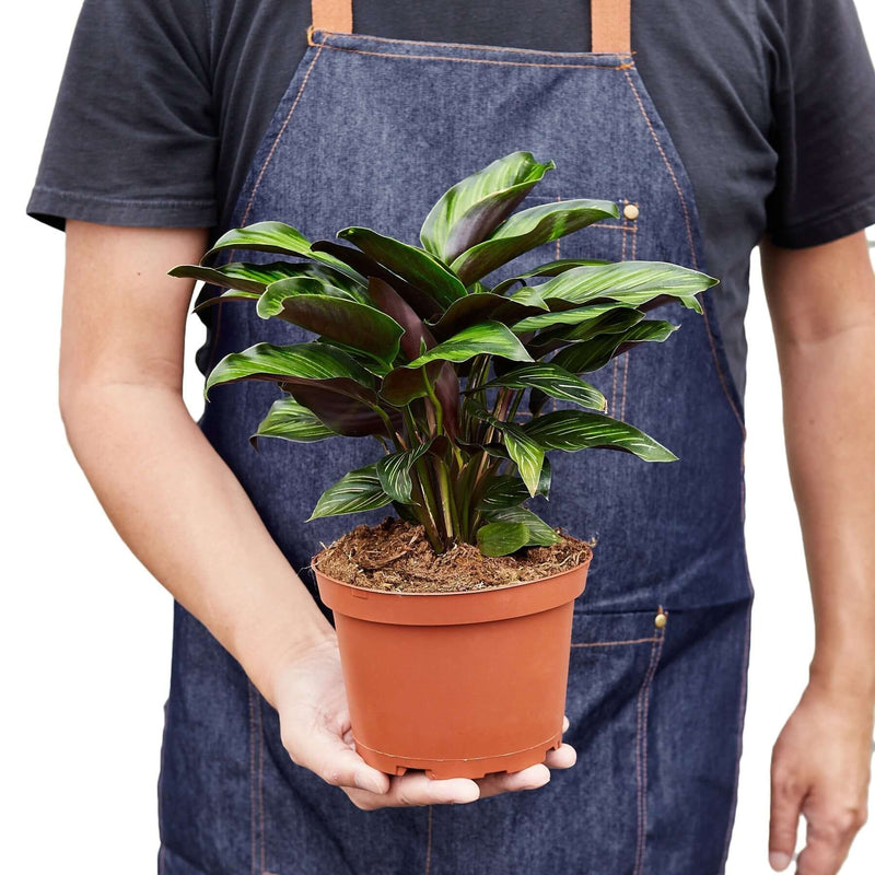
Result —
<path fill-rule="evenodd" d="M 550 750 L 544 763 L 477 780 L 435 780 L 424 771 L 381 772 L 355 752 L 336 639 L 312 646 L 285 665 L 273 689 L 282 743 L 292 761 L 341 788 L 364 810 L 465 803 L 508 791 L 535 790 L 550 780 L 550 769 L 568 769 L 578 758 L 574 748 L 563 744 Z M 568 718 L 562 731 L 567 728 Z"/>

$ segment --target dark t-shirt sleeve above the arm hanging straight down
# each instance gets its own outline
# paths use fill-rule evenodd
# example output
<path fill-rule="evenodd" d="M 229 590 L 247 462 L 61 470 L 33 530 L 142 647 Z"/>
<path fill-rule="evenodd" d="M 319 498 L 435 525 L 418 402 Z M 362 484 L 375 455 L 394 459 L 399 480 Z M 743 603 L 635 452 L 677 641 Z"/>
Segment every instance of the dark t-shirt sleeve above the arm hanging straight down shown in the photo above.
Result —
<path fill-rule="evenodd" d="M 767 230 L 779 246 L 815 246 L 875 224 L 875 71 L 854 0 L 770 2 Z"/>

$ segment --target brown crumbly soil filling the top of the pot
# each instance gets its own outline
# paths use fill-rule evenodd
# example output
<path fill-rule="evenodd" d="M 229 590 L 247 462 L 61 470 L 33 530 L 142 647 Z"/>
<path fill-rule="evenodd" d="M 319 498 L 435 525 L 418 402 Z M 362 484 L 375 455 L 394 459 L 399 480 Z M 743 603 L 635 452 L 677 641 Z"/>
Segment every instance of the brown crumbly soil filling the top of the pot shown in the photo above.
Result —
<path fill-rule="evenodd" d="M 471 544 L 435 553 L 422 526 L 386 517 L 357 526 L 316 555 L 319 571 L 342 583 L 396 593 L 457 593 L 559 574 L 586 561 L 592 545 L 557 529 L 551 547 L 487 557 Z"/>

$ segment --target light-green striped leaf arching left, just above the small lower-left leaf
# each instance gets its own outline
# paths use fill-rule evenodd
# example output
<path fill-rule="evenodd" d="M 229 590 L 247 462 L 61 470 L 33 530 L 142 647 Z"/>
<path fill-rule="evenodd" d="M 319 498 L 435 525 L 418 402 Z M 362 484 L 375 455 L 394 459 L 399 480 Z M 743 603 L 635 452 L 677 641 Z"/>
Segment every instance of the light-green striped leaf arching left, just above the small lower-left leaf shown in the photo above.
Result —
<path fill-rule="evenodd" d="M 256 343 L 243 352 L 231 352 L 218 362 L 207 377 L 203 397 L 207 398 L 210 389 L 220 383 L 240 380 L 271 380 L 282 383 L 295 377 L 348 377 L 364 388 L 374 385 L 372 374 L 345 352 L 327 343 L 295 343 L 289 347 Z"/>

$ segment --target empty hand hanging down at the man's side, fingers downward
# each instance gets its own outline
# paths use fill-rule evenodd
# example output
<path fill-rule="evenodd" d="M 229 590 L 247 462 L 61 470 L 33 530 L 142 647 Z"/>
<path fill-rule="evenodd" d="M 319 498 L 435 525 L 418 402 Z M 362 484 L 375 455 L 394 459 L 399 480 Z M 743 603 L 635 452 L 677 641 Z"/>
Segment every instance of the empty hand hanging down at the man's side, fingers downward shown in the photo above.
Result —
<path fill-rule="evenodd" d="M 836 875 L 866 820 L 872 703 L 809 684 L 772 752 L 769 862 L 792 862 L 800 814 L 805 849 L 798 875 Z"/>

